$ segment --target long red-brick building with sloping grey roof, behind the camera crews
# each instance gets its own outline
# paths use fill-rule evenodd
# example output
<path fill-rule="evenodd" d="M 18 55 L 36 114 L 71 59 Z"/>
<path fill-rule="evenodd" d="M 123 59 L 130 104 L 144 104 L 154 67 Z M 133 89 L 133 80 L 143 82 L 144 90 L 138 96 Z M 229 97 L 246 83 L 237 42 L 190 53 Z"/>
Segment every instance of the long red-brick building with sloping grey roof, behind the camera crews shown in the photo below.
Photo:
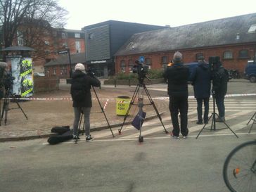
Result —
<path fill-rule="evenodd" d="M 150 68 L 165 68 L 175 51 L 184 63 L 219 56 L 225 68 L 243 72 L 256 53 L 256 13 L 134 34 L 115 53 L 115 71 L 130 72 L 144 56 Z"/>

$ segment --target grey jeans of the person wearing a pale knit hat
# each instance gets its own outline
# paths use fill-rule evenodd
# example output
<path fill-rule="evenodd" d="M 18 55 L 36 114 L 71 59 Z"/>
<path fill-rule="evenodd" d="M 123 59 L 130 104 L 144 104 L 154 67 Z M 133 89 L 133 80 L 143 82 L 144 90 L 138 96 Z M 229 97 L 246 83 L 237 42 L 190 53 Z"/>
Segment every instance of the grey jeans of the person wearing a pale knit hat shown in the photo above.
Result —
<path fill-rule="evenodd" d="M 78 124 L 81 118 L 81 114 L 84 113 L 84 127 L 85 127 L 85 135 L 90 135 L 90 113 L 91 108 L 85 107 L 74 107 L 75 119 L 73 123 L 73 135 L 78 135 Z"/>

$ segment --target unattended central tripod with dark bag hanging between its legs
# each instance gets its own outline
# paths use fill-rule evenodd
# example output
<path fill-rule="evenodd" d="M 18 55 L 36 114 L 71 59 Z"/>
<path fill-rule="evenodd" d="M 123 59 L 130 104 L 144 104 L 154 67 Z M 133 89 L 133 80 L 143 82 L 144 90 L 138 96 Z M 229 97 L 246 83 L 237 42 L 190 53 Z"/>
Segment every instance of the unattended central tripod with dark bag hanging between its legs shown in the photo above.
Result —
<path fill-rule="evenodd" d="M 141 91 L 141 92 L 140 92 Z M 146 95 L 148 96 L 148 100 L 150 101 L 150 103 L 148 104 L 143 104 L 143 92 L 146 92 Z M 139 96 L 138 98 L 138 104 L 134 104 L 134 100 L 136 98 L 136 96 Z M 158 113 L 158 109 L 155 106 L 155 103 L 153 102 L 153 99 L 151 98 L 151 95 L 148 92 L 148 89 L 146 88 L 146 85 L 143 83 L 143 78 L 139 78 L 139 84 L 137 84 L 136 89 L 134 91 L 134 94 L 132 96 L 132 100 L 129 103 L 129 108 L 127 110 L 127 113 L 124 115 L 124 121 L 122 122 L 122 127 L 124 126 L 124 122 L 127 119 L 127 116 L 129 114 L 129 110 L 131 109 L 132 105 L 138 105 L 139 106 L 139 113 L 138 113 L 138 117 L 139 117 L 139 142 L 143 142 L 143 136 L 141 136 L 141 127 L 142 127 L 142 123 L 143 123 L 143 114 L 146 114 L 143 112 L 143 106 L 144 105 L 153 105 L 153 108 L 155 110 L 155 113 L 157 113 L 158 118 L 162 124 L 162 127 L 165 129 L 165 125 L 162 123 L 162 117 L 160 116 L 160 114 Z M 121 129 L 118 129 L 119 134 L 122 134 L 122 127 Z M 165 133 L 168 134 L 167 130 L 165 129 Z"/>

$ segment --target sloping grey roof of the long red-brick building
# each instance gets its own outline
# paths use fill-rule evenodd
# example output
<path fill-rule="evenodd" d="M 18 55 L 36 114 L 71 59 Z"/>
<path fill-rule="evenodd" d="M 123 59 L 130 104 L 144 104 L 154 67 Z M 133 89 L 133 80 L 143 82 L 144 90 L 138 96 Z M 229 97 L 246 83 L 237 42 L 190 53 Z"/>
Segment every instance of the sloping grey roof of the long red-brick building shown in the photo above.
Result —
<path fill-rule="evenodd" d="M 115 56 L 256 42 L 256 13 L 134 34 Z M 239 34 L 239 39 L 237 39 Z"/>

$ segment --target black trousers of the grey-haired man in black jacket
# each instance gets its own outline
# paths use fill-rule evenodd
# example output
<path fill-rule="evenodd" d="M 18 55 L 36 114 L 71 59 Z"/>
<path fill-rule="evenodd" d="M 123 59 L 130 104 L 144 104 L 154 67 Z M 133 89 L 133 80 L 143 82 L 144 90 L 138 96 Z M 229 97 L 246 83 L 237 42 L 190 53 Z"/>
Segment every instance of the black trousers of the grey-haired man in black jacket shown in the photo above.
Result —
<path fill-rule="evenodd" d="M 169 111 L 172 117 L 172 134 L 179 136 L 179 132 L 183 136 L 188 135 L 188 97 L 187 96 L 170 96 Z M 179 129 L 178 115 L 181 115 L 181 129 Z"/>

